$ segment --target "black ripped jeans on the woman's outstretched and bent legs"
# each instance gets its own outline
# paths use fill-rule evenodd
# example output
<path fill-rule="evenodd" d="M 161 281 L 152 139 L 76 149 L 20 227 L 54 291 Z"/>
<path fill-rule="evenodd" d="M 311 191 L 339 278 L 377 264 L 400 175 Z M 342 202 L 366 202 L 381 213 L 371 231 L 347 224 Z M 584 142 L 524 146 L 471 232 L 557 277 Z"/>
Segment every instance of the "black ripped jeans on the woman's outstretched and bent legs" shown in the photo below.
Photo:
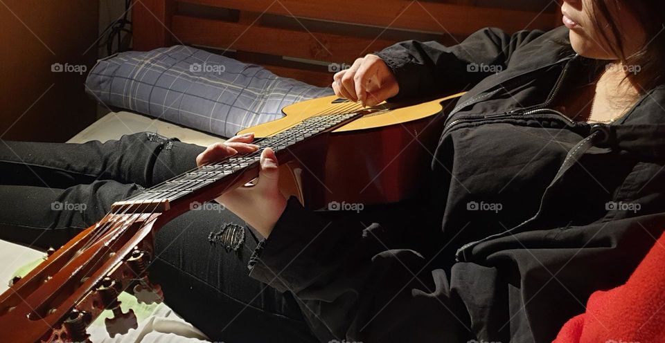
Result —
<path fill-rule="evenodd" d="M 203 149 L 154 133 L 80 145 L 0 140 L 0 239 L 59 248 L 114 201 L 195 167 Z M 233 225 L 245 232 L 235 249 L 219 235 Z M 190 211 L 159 230 L 150 277 L 211 340 L 316 342 L 292 294 L 248 277 L 257 242 L 229 211 Z"/>

